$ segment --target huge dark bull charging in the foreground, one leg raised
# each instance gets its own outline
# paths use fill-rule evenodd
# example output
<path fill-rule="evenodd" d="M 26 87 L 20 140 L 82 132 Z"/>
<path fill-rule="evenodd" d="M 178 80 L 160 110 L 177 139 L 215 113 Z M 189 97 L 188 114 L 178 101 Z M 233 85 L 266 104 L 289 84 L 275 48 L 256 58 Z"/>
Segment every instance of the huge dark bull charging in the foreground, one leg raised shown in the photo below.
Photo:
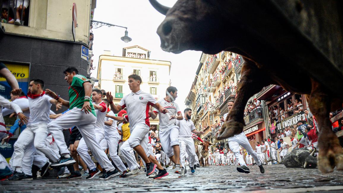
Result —
<path fill-rule="evenodd" d="M 243 131 L 252 95 L 280 85 L 306 94 L 318 122 L 319 170 L 343 170 L 343 150 L 329 119 L 343 99 L 342 1 L 178 0 L 172 8 L 149 1 L 166 15 L 157 28 L 164 51 L 225 50 L 243 56 L 236 100 L 218 140 Z"/>

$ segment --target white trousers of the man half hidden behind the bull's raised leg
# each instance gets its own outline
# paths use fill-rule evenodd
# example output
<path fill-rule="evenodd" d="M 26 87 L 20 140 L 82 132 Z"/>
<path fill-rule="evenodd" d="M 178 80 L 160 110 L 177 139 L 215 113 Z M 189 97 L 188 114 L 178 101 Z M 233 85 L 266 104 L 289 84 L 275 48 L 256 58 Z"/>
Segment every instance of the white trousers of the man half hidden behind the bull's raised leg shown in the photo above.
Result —
<path fill-rule="evenodd" d="M 246 166 L 243 155 L 240 154 L 239 145 L 241 145 L 247 152 L 256 160 L 257 165 L 261 165 L 261 161 L 257 158 L 256 152 L 252 149 L 248 138 L 244 133 L 234 135 L 228 139 L 229 148 L 234 152 L 236 159 L 238 160 L 240 166 Z"/>

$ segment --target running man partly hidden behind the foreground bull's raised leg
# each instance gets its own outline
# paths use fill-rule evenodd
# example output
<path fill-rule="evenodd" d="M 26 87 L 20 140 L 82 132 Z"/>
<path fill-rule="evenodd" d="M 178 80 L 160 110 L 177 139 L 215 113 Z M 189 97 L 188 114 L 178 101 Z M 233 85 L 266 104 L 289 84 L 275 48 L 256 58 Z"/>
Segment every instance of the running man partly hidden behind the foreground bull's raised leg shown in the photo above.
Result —
<path fill-rule="evenodd" d="M 230 112 L 232 106 L 234 105 L 234 101 L 233 100 L 229 100 L 227 102 L 227 108 L 228 111 Z M 224 114 L 224 120 L 226 120 L 226 116 L 229 114 L 226 113 Z M 241 173 L 250 173 L 249 168 L 247 167 L 247 164 L 244 161 L 243 155 L 240 154 L 240 150 L 239 150 L 239 145 L 241 145 L 244 149 L 247 150 L 247 152 L 254 158 L 254 160 L 256 161 L 258 167 L 260 168 L 260 172 L 264 173 L 264 168 L 262 166 L 261 161 L 257 158 L 257 154 L 256 152 L 252 149 L 248 138 L 245 136 L 244 132 L 241 132 L 240 134 L 234 135 L 232 137 L 228 138 L 228 145 L 229 148 L 232 150 L 232 152 L 234 153 L 236 159 L 238 160 L 240 166 L 237 167 L 237 171 L 241 172 Z"/>

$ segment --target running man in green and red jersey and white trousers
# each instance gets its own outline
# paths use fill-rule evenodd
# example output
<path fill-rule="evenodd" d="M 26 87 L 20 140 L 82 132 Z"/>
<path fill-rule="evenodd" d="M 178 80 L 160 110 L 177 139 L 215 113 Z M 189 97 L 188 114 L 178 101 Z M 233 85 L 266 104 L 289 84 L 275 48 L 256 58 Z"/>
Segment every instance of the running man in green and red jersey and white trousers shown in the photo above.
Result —
<path fill-rule="evenodd" d="M 115 176 L 115 168 L 107 158 L 105 152 L 101 149 L 99 143 L 95 138 L 95 122 L 96 113 L 92 104 L 92 84 L 86 77 L 79 74 L 78 70 L 74 67 L 69 67 L 64 70 L 64 80 L 68 82 L 69 99 L 70 101 L 63 100 L 56 93 L 46 90 L 47 94 L 55 98 L 66 107 L 69 111 L 64 113 L 58 119 L 48 124 L 48 129 L 60 150 L 61 158 L 53 163 L 51 166 L 64 166 L 65 162 L 71 160 L 66 143 L 64 142 L 63 129 L 68 129 L 76 126 L 82 137 L 84 138 L 87 147 L 92 151 L 95 159 L 99 162 L 102 168 L 107 172 L 104 178 L 109 179 Z M 81 156 L 81 155 L 80 155 Z M 84 159 L 81 156 L 82 159 Z M 96 175 L 99 170 L 96 168 L 89 168 L 89 174 Z"/>

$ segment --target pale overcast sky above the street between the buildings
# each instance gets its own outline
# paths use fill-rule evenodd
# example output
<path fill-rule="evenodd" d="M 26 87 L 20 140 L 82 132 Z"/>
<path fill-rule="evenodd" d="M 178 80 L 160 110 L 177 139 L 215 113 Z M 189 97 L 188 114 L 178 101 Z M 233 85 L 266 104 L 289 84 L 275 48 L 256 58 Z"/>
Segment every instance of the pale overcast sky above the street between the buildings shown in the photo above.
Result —
<path fill-rule="evenodd" d="M 159 0 L 159 2 L 172 7 L 176 0 Z M 111 50 L 115 56 L 122 56 L 122 48 L 139 45 L 151 51 L 150 59 L 171 61 L 169 79 L 171 79 L 171 85 L 178 89 L 176 102 L 182 110 L 186 108 L 184 101 L 194 81 L 201 52 L 184 51 L 176 55 L 163 51 L 156 29 L 164 18 L 165 16 L 158 13 L 148 0 L 97 0 L 93 19 L 128 27 L 132 41 L 129 43 L 121 41 L 120 37 L 124 36 L 124 28 L 103 26 L 93 29 L 94 57 L 92 59 L 96 69 L 91 71 L 91 76 L 97 76 L 98 60 L 103 50 Z"/>

